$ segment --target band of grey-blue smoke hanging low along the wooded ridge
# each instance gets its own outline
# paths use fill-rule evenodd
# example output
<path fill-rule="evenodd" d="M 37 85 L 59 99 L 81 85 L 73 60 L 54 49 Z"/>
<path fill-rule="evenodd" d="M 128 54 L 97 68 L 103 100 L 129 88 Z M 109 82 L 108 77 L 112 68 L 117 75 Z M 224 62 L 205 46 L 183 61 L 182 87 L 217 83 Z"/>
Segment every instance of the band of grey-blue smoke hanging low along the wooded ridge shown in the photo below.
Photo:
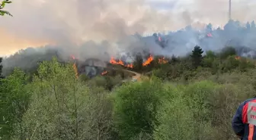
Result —
<path fill-rule="evenodd" d="M 221 51 L 225 46 L 232 46 L 238 55 L 253 58 L 255 57 L 256 28 L 254 21 L 251 23 L 240 23 L 230 20 L 224 29 L 213 29 L 209 23 L 203 30 L 196 30 L 192 26 L 184 29 L 169 32 L 164 35 L 161 33 L 152 36 L 141 36 L 138 33 L 133 36 L 126 36 L 118 42 L 94 41 L 85 42 L 73 48 L 73 45 L 46 45 L 41 48 L 27 48 L 18 51 L 3 60 L 5 74 L 6 70 L 13 67 L 21 67 L 24 70 L 35 67 L 38 61 L 50 60 L 57 56 L 62 61 L 70 59 L 71 55 L 85 61 L 88 58 L 98 58 L 102 61 L 109 61 L 110 57 L 129 58 L 128 54 L 145 51 L 151 54 L 161 54 L 168 57 L 184 56 L 190 52 L 195 45 L 200 45 L 204 51 Z M 72 47 L 71 47 L 72 46 Z M 113 48 L 114 47 L 114 48 Z M 110 49 L 111 48 L 111 49 Z M 128 59 L 129 60 L 129 59 Z M 133 59 L 132 59 L 133 60 Z"/>

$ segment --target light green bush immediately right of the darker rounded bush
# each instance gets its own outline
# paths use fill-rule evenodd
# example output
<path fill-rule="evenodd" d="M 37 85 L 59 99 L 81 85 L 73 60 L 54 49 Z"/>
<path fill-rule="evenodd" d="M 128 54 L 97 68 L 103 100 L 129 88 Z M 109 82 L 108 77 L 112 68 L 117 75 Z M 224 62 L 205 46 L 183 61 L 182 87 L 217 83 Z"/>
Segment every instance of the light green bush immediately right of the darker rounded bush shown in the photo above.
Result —
<path fill-rule="evenodd" d="M 216 87 L 219 86 L 213 82 L 203 81 L 168 89 L 173 98 L 165 100 L 158 110 L 159 125 L 155 127 L 154 138 L 216 139 L 208 101 Z"/>

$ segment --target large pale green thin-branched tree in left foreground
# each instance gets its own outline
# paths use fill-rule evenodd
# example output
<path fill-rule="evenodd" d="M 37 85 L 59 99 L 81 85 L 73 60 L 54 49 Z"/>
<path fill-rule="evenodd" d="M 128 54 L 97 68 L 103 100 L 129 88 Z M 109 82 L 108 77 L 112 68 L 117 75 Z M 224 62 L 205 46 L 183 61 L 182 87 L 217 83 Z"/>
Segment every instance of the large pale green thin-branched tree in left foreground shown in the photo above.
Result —
<path fill-rule="evenodd" d="M 59 64 L 56 58 L 43 61 L 31 86 L 33 95 L 22 128 L 24 138 L 110 139 L 107 93 L 101 88 L 90 89 L 77 79 L 72 64 Z"/>

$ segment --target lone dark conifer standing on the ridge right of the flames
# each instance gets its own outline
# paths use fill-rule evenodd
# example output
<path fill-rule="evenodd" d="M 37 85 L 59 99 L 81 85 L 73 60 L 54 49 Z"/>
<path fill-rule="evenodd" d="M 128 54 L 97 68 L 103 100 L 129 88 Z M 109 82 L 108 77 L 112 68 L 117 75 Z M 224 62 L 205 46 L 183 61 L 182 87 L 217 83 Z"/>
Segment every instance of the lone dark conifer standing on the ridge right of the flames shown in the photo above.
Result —
<path fill-rule="evenodd" d="M 200 48 L 200 46 L 196 45 L 194 47 L 194 50 L 192 51 L 192 54 L 190 55 L 190 57 L 192 58 L 194 67 L 200 66 L 201 61 L 203 60 L 202 54 L 203 54 L 202 48 Z"/>

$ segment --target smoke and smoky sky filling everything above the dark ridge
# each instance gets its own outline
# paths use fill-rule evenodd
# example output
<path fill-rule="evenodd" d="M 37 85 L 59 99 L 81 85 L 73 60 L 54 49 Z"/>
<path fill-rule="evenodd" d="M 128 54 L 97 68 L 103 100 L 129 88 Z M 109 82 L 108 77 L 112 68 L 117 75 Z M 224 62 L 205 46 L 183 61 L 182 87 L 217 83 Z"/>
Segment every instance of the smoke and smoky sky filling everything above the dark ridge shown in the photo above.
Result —
<path fill-rule="evenodd" d="M 232 2 L 234 19 L 243 22 L 255 19 L 251 1 Z M 14 17 L 5 17 L 0 23 L 0 36 L 4 40 L 2 51 L 17 50 L 20 45 L 22 48 L 47 46 L 20 51 L 5 59 L 3 64 L 4 67 L 28 67 L 30 61 L 47 60 L 53 54 L 64 60 L 71 54 L 82 60 L 109 60 L 110 56 L 120 54 L 120 50 L 148 49 L 155 54 L 184 55 L 197 44 L 216 51 L 229 41 L 229 45 L 253 48 L 254 30 L 245 32 L 244 25 L 232 22 L 230 29 L 214 30 L 212 39 L 201 37 L 209 30 L 201 33 L 187 26 L 197 29 L 204 28 L 206 23 L 224 26 L 227 7 L 228 2 L 221 0 L 16 0 L 7 9 Z M 184 26 L 187 26 L 184 31 L 162 36 L 164 41 L 168 40 L 165 48 L 159 47 L 152 36 L 153 32 L 179 30 Z M 149 31 L 152 31 L 150 37 L 130 36 Z"/>

